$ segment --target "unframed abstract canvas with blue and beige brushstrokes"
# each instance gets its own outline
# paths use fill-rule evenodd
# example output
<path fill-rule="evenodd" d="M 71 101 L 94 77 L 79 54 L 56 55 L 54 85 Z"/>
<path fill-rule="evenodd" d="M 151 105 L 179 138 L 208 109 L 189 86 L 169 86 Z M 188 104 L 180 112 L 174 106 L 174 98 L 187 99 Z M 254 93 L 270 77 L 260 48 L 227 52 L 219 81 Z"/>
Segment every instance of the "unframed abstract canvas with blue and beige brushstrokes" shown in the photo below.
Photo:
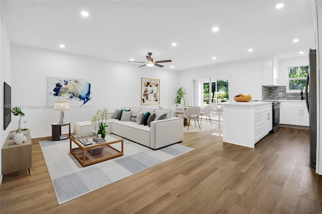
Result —
<path fill-rule="evenodd" d="M 84 79 L 47 77 L 47 104 L 69 101 L 70 106 L 89 106 L 92 99 L 91 83 Z"/>

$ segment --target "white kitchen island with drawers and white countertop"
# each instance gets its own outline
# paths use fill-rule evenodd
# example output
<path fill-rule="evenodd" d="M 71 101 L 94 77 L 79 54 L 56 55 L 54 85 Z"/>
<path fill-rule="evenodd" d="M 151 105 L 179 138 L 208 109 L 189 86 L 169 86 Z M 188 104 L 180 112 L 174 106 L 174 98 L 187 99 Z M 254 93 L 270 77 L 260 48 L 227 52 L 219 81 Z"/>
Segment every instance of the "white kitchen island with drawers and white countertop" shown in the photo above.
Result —
<path fill-rule="evenodd" d="M 255 144 L 272 130 L 270 101 L 230 102 L 221 106 L 223 142 L 255 148 Z"/>

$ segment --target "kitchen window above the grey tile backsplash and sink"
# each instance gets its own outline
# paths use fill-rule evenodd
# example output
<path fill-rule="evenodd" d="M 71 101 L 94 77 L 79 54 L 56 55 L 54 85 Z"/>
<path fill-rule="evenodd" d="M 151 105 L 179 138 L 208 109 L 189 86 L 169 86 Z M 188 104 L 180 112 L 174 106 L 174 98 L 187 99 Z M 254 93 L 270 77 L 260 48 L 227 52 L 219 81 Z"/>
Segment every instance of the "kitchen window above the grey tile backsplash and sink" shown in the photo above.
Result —
<path fill-rule="evenodd" d="M 299 92 L 301 89 L 305 90 L 307 73 L 308 66 L 289 67 L 286 92 Z"/>

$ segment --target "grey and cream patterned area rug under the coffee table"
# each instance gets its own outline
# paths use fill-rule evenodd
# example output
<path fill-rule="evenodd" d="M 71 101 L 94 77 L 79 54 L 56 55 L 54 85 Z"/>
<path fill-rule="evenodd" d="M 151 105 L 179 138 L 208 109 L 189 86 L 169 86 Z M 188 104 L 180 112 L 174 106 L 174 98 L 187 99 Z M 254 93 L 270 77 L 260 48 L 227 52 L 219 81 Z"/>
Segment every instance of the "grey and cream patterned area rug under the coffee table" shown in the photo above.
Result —
<path fill-rule="evenodd" d="M 152 150 L 124 139 L 123 156 L 83 167 L 69 153 L 69 139 L 39 144 L 59 204 L 193 150 L 180 144 Z"/>

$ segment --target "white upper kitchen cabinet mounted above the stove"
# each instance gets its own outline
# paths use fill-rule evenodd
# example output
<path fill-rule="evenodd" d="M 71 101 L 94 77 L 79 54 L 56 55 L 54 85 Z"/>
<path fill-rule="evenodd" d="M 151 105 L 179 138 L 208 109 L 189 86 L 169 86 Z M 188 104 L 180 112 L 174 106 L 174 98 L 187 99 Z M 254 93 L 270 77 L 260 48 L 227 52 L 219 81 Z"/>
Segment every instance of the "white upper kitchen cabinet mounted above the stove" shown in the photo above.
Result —
<path fill-rule="evenodd" d="M 278 85 L 278 67 L 275 57 L 262 58 L 262 85 Z"/>

